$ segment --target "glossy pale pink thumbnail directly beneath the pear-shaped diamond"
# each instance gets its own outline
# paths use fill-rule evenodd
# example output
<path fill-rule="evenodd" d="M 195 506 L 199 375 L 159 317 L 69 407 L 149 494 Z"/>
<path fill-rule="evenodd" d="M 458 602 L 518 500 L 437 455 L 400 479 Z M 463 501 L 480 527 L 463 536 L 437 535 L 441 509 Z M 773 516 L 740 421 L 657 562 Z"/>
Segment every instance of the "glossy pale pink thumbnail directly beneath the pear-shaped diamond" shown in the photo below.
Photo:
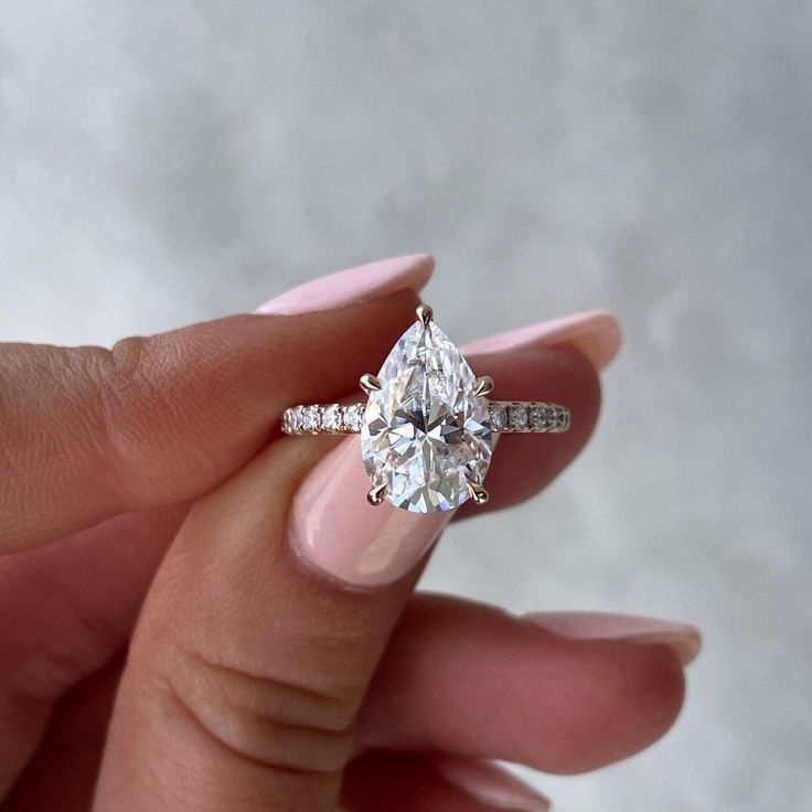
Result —
<path fill-rule="evenodd" d="M 329 451 L 299 487 L 290 512 L 293 551 L 338 584 L 374 588 L 408 573 L 428 552 L 453 511 L 410 513 L 366 502 L 370 479 L 357 437 Z"/>

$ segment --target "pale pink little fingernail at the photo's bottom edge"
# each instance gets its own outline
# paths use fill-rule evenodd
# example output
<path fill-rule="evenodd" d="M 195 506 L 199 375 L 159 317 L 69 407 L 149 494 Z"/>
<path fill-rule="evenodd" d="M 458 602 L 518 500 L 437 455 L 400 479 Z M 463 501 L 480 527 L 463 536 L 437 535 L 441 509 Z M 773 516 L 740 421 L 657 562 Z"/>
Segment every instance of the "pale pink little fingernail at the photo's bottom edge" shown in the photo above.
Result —
<path fill-rule="evenodd" d="M 549 799 L 489 761 L 438 756 L 434 767 L 449 783 L 485 806 L 513 812 L 547 812 Z"/>

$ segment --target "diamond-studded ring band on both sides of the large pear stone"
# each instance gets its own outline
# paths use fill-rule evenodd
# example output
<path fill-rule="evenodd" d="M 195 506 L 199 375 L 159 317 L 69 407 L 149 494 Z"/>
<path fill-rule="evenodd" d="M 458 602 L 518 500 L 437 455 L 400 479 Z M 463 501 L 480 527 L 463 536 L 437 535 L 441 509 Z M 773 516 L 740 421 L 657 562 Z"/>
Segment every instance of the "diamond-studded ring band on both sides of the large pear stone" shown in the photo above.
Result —
<path fill-rule="evenodd" d="M 357 435 L 366 404 L 307 404 L 282 413 L 286 435 Z M 489 400 L 491 430 L 500 434 L 560 434 L 569 428 L 569 409 L 538 400 Z"/>

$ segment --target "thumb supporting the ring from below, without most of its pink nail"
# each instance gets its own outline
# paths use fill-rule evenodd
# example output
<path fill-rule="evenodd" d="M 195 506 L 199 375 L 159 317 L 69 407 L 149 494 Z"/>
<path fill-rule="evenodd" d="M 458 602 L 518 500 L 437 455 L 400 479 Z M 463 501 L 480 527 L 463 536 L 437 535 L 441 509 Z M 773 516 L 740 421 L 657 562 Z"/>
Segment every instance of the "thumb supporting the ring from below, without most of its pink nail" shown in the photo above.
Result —
<path fill-rule="evenodd" d="M 130 812 L 335 809 L 356 713 L 416 574 L 352 591 L 292 553 L 293 490 L 329 442 L 280 440 L 193 509 L 143 608 L 96 810 L 124 798 Z M 357 493 L 357 534 L 383 522 L 389 538 L 427 546 L 448 515 Z"/>

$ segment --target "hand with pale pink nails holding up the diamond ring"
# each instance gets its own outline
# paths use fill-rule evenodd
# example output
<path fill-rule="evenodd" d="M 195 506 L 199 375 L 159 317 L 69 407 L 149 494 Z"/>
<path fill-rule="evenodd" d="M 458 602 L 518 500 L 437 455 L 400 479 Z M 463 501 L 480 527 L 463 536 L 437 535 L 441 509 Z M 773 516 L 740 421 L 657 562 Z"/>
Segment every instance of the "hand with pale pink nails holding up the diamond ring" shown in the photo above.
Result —
<path fill-rule="evenodd" d="M 436 517 L 368 507 L 356 438 L 280 435 L 377 368 L 430 271 L 391 260 L 111 351 L 2 348 L 6 812 L 544 809 L 481 759 L 577 772 L 669 728 L 695 630 L 414 595 Z M 573 429 L 503 437 L 490 502 L 456 521 L 578 453 L 617 343 L 597 314 L 467 350 L 502 397 L 543 381 Z"/>

